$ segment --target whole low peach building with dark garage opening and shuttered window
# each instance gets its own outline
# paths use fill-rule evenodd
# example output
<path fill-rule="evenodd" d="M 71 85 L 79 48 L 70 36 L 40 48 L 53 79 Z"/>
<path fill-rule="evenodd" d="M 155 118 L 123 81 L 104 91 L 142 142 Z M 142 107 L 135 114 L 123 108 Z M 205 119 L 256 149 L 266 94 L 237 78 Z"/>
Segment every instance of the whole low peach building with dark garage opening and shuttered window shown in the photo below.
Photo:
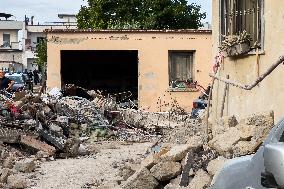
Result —
<path fill-rule="evenodd" d="M 107 81 L 100 87 L 132 85 L 140 109 L 168 111 L 178 106 L 191 111 L 201 93 L 194 82 L 204 88 L 210 83 L 210 30 L 48 30 L 47 39 L 48 89 L 74 82 L 84 86 L 84 81 L 94 87 Z M 72 80 L 80 73 L 81 82 Z"/>

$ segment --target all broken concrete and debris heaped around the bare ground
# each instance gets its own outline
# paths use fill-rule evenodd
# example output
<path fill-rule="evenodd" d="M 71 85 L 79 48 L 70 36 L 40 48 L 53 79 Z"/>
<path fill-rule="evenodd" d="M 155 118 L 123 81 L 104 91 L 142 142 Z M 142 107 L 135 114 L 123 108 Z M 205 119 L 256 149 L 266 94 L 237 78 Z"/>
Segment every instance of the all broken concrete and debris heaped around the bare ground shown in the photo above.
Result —
<path fill-rule="evenodd" d="M 229 158 L 254 153 L 274 125 L 273 112 L 239 122 L 235 116 L 223 117 L 210 123 L 208 142 L 207 126 L 189 114 L 122 108 L 95 91 L 81 91 L 83 97 L 70 94 L 77 92 L 55 88 L 41 97 L 27 93 L 15 102 L 0 98 L 0 181 L 6 188 L 27 188 L 23 174 L 36 171 L 39 162 L 89 157 L 102 141 L 114 141 L 110 154 L 116 141 L 155 143 L 141 154 L 144 160 L 135 162 L 138 169 L 111 164 L 120 180 L 99 188 L 206 188 Z"/>

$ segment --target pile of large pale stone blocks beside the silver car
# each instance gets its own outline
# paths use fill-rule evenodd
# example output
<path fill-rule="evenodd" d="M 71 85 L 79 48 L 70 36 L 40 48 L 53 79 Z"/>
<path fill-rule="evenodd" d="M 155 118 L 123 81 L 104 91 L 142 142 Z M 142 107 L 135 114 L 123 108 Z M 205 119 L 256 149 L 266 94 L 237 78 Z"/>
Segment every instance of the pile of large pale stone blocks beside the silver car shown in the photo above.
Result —
<path fill-rule="evenodd" d="M 187 137 L 182 143 L 157 144 L 140 168 L 129 172 L 128 179 L 124 177 L 121 187 L 207 188 L 229 159 L 256 152 L 274 126 L 273 120 L 273 112 L 254 114 L 240 121 L 235 116 L 224 117 L 211 124 L 208 142 L 201 134 Z"/>

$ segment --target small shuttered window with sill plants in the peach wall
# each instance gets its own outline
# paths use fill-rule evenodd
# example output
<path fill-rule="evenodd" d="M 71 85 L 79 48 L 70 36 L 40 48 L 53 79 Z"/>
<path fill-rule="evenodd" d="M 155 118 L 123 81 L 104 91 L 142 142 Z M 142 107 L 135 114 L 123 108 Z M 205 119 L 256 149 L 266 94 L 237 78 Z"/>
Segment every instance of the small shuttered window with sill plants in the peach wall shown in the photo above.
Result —
<path fill-rule="evenodd" d="M 187 84 L 193 83 L 193 54 L 190 51 L 169 51 L 170 86 L 183 83 L 182 88 L 186 88 Z"/>

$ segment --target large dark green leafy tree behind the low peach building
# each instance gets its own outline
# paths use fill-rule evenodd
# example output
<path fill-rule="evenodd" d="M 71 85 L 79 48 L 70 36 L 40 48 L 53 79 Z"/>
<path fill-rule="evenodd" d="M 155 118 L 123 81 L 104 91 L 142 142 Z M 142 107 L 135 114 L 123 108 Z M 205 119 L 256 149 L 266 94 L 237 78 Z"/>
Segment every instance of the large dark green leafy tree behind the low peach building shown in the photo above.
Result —
<path fill-rule="evenodd" d="M 80 29 L 197 29 L 206 17 L 186 0 L 88 0 L 77 22 Z"/>

